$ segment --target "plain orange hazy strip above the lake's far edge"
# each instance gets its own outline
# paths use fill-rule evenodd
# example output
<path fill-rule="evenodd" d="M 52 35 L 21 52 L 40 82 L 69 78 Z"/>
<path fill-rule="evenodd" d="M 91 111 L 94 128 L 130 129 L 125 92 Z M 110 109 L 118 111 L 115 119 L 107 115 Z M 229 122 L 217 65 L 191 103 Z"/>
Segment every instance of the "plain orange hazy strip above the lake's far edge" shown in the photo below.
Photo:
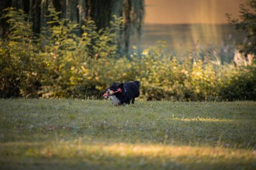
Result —
<path fill-rule="evenodd" d="M 239 15 L 248 0 L 145 0 L 145 23 L 227 23 L 226 13 Z"/>

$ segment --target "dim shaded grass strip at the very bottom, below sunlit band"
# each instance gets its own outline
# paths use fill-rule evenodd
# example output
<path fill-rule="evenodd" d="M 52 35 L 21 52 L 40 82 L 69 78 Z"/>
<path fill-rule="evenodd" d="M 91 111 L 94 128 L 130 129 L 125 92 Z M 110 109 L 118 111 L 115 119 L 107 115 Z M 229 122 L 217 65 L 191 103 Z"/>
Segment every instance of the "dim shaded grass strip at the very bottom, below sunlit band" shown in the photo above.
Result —
<path fill-rule="evenodd" d="M 175 163 L 167 161 L 148 162 L 144 158 L 111 157 L 113 162 L 105 160 L 102 163 L 90 163 L 83 159 L 33 159 L 10 160 L 0 162 L 0 169 L 255 169 L 256 165 L 248 162 L 237 163 L 232 160 L 229 163 Z M 138 161 L 139 160 L 139 161 Z M 100 160 L 99 160 L 100 161 Z"/>

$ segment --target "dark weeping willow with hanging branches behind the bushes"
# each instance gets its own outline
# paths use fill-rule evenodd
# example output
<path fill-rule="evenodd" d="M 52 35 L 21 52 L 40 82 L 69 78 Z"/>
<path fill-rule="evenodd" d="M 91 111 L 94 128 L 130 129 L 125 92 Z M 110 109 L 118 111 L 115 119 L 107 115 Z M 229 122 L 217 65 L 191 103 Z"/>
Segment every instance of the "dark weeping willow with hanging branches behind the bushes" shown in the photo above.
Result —
<path fill-rule="evenodd" d="M 49 5 L 60 11 L 60 18 L 68 18 L 83 25 L 85 20 L 95 21 L 98 29 L 109 26 L 113 15 L 123 17 L 123 30 L 120 34 L 119 51 L 127 54 L 130 35 L 137 33 L 140 36 L 144 17 L 144 0 L 2 0 L 0 1 L 0 15 L 3 9 L 9 6 L 21 8 L 29 14 L 32 29 L 40 33 L 46 26 Z M 6 25 L 1 20 L 0 33 L 5 34 Z"/>

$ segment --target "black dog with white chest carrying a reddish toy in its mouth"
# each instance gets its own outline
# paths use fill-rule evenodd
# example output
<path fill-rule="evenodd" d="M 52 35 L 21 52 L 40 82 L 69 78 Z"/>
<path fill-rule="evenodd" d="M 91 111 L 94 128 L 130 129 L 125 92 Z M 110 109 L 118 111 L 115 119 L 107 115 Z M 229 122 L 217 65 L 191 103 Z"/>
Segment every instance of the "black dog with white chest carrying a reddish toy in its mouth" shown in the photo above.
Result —
<path fill-rule="evenodd" d="M 110 96 L 110 99 L 114 103 L 114 105 L 125 105 L 134 103 L 135 98 L 139 97 L 139 81 L 131 81 L 126 82 L 125 84 L 116 84 L 114 83 L 110 88 L 107 90 L 109 93 L 113 91 L 113 94 Z"/>

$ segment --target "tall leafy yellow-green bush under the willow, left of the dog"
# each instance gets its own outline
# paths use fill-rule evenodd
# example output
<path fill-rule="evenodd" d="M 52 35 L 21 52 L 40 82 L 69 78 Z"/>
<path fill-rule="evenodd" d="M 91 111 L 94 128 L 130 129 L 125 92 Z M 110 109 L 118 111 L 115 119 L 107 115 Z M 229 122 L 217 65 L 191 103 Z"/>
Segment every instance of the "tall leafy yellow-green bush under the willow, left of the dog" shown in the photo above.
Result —
<path fill-rule="evenodd" d="M 84 92 L 88 91 L 89 95 L 93 95 L 96 93 L 96 82 L 86 81 L 86 77 L 90 77 L 87 74 L 93 71 L 91 77 L 98 79 L 98 73 L 90 65 L 94 64 L 94 60 L 116 56 L 115 31 L 119 29 L 122 18 L 114 17 L 110 28 L 97 31 L 93 21 L 87 21 L 86 25 L 78 28 L 77 23 L 59 19 L 59 13 L 54 8 L 50 8 L 49 12 L 51 21 L 39 39 L 38 55 L 44 64 L 44 72 L 38 94 L 45 97 L 84 97 Z M 83 31 L 81 37 L 75 34 L 79 29 Z"/>

